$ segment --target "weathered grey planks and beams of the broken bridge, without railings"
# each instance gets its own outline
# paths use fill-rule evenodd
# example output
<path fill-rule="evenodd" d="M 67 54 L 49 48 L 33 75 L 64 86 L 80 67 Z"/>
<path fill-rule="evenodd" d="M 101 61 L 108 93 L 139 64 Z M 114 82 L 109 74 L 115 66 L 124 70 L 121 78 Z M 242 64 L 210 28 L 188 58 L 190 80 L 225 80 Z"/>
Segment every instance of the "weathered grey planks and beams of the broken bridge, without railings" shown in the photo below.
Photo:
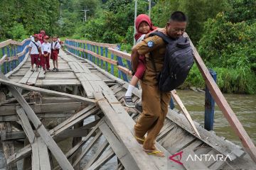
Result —
<path fill-rule="evenodd" d="M 165 152 L 166 157 L 144 153 L 132 135 L 140 113 L 124 107 L 122 101 L 128 84 L 92 62 L 63 50 L 60 50 L 58 62 L 60 72 L 31 72 L 28 57 L 20 68 L 6 74 L 11 81 L 3 80 L 1 76 L 1 84 L 9 85 L 19 103 L 14 98 L 0 103 L 0 121 L 7 127 L 2 128 L 1 141 L 3 145 L 11 142 L 8 146 L 14 147 L 14 140 L 28 139 L 25 147 L 16 153 L 10 151 L 10 157 L 6 157 L 8 166 L 16 167 L 18 160 L 31 155 L 32 169 L 77 169 L 90 149 L 96 148 L 87 163 L 81 164 L 82 169 L 100 169 L 112 157 L 117 157 L 115 169 L 255 169 L 255 164 L 241 147 L 196 123 L 201 135 L 198 139 L 185 116 L 177 110 L 169 110 L 156 140 L 156 146 Z M 10 86 L 16 86 L 18 90 Z M 138 101 L 140 96 L 141 91 L 137 89 L 133 100 Z M 92 116 L 92 122 L 81 125 Z M 56 119 L 53 125 L 48 125 L 44 121 L 47 118 L 63 118 L 63 121 Z M 63 153 L 55 142 L 67 137 L 74 137 L 78 142 L 73 141 Z M 99 141 L 103 142 L 97 147 Z M 181 151 L 182 165 L 169 159 Z M 223 154 L 233 161 L 210 159 L 193 162 L 186 160 L 188 154 Z M 51 155 L 58 164 L 53 164 Z"/>

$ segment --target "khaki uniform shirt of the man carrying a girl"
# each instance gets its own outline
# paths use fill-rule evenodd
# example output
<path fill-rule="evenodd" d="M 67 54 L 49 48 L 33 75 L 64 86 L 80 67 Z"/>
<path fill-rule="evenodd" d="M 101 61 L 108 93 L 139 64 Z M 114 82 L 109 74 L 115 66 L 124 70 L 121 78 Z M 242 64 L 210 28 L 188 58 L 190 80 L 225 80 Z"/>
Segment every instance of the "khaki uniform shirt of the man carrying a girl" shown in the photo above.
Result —
<path fill-rule="evenodd" d="M 148 42 L 151 43 L 151 45 L 148 45 Z M 156 85 L 156 74 L 158 74 L 164 66 L 164 54 L 166 50 L 166 44 L 164 40 L 159 36 L 154 35 L 152 37 L 146 38 L 145 40 L 142 40 L 142 42 L 139 42 L 139 44 L 137 44 L 135 47 L 139 55 L 145 55 L 146 57 L 146 71 L 144 73 L 142 82 L 148 85 Z M 151 57 L 154 57 L 157 72 L 155 72 L 154 65 L 149 57 L 149 52 L 152 54 Z"/>

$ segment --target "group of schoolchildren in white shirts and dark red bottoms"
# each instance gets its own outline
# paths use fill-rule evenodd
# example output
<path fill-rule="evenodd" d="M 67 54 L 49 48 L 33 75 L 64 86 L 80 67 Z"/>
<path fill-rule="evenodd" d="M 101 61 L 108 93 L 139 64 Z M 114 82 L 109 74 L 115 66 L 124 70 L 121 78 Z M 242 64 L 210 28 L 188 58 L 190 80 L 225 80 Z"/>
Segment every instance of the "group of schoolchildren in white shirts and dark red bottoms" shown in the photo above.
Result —
<path fill-rule="evenodd" d="M 31 36 L 31 42 L 28 45 L 28 55 L 31 56 L 31 72 L 38 72 L 38 68 L 42 67 L 46 72 L 50 71 L 50 59 L 53 60 L 53 72 L 58 72 L 58 53 L 60 50 L 60 39 L 57 36 L 49 38 L 44 30 Z M 34 69 L 36 64 L 36 69 Z"/>

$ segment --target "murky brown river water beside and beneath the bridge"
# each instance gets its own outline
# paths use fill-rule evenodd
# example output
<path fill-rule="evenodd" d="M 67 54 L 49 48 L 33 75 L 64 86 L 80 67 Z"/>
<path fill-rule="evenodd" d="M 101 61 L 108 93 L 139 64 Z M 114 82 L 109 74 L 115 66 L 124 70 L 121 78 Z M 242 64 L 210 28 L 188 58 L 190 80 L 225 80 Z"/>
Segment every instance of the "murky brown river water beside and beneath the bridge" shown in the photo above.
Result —
<path fill-rule="evenodd" d="M 183 101 L 183 104 L 191 114 L 191 118 L 196 122 L 203 125 L 204 123 L 204 100 L 205 94 L 196 91 L 177 91 L 178 96 Z M 246 132 L 256 144 L 256 96 L 244 95 L 244 94 L 224 94 L 231 108 L 237 115 L 240 123 L 242 123 Z M 91 120 L 92 121 L 92 120 Z M 237 145 L 240 144 L 240 140 L 235 135 L 235 132 L 230 128 L 228 121 L 225 119 L 223 113 L 215 104 L 215 118 L 213 130 L 218 136 L 226 137 L 228 140 L 234 142 Z M 99 146 L 102 144 L 102 140 L 99 141 Z M 1 143 L 0 143 L 1 145 Z M 87 157 L 92 157 L 96 152 L 96 149 L 92 150 Z M 82 161 L 82 164 L 86 164 L 87 160 Z M 21 162 L 19 162 L 21 165 Z M 116 159 L 110 160 L 109 164 L 106 164 L 102 169 L 113 169 L 116 165 Z M 5 169 L 5 161 L 3 150 L 0 147 L 0 170 Z M 19 167 L 18 169 L 21 169 Z"/>

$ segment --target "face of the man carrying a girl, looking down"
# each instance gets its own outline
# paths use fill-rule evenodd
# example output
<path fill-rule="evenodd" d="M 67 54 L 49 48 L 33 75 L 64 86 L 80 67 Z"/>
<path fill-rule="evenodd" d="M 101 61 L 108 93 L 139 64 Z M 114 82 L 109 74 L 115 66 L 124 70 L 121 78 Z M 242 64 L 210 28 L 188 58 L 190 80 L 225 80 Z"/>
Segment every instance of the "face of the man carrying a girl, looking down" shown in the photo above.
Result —
<path fill-rule="evenodd" d="M 170 21 L 166 26 L 166 33 L 169 37 L 177 39 L 183 35 L 186 29 L 186 22 Z"/>

